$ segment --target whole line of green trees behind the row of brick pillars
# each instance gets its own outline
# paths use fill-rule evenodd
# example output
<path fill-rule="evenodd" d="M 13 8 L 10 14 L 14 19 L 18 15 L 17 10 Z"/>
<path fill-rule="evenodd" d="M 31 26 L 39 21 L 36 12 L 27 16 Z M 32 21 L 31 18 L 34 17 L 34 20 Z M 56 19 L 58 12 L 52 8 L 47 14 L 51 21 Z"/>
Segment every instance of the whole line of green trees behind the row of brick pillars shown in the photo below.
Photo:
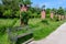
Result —
<path fill-rule="evenodd" d="M 32 4 L 31 0 L 2 0 L 2 4 L 0 3 L 0 18 L 20 18 L 20 4 Z M 30 16 L 31 18 L 40 18 L 42 9 L 45 8 L 43 6 L 40 7 L 30 7 Z M 54 12 L 54 14 L 58 15 L 65 15 L 66 9 L 63 9 L 59 7 L 58 9 L 45 9 L 46 15 L 50 16 L 51 11 Z"/>

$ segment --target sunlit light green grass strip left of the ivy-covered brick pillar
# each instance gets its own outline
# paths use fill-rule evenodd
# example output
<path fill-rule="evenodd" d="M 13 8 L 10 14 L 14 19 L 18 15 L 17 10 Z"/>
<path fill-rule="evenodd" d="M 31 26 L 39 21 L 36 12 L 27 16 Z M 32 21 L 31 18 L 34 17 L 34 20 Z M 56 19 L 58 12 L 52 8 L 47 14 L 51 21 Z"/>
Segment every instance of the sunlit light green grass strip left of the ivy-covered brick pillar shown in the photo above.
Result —
<path fill-rule="evenodd" d="M 16 23 L 16 19 L 0 19 L 0 26 L 13 26 Z"/>

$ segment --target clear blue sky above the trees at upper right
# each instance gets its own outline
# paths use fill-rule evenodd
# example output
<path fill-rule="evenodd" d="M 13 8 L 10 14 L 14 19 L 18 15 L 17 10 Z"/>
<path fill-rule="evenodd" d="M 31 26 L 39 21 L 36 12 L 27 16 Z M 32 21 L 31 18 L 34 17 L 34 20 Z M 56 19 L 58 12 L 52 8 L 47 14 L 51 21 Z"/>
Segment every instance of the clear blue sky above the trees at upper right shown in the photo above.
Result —
<path fill-rule="evenodd" d="M 43 4 L 46 6 L 46 8 L 66 8 L 66 0 L 31 0 L 33 2 L 33 7 L 38 6 L 42 7 Z"/>

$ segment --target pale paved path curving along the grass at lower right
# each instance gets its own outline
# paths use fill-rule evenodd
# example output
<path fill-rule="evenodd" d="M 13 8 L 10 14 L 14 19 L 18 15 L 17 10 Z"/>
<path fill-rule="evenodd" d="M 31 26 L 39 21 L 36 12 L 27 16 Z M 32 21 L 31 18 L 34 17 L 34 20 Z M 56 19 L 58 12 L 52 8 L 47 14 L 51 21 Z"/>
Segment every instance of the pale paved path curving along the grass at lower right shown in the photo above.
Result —
<path fill-rule="evenodd" d="M 46 38 L 33 41 L 30 44 L 66 44 L 66 23 L 62 24 L 55 32 Z"/>

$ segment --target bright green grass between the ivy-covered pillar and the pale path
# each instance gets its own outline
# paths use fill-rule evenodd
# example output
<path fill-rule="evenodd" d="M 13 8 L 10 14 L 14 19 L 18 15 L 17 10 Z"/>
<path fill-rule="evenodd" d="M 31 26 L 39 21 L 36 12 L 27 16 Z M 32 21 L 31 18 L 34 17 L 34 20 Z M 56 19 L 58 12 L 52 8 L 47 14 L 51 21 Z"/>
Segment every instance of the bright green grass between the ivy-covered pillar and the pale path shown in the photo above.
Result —
<path fill-rule="evenodd" d="M 50 35 L 53 31 L 55 31 L 64 21 L 51 21 L 47 20 L 48 24 L 42 23 L 41 19 L 30 20 L 29 24 L 34 30 L 34 40 L 42 40 Z"/>

